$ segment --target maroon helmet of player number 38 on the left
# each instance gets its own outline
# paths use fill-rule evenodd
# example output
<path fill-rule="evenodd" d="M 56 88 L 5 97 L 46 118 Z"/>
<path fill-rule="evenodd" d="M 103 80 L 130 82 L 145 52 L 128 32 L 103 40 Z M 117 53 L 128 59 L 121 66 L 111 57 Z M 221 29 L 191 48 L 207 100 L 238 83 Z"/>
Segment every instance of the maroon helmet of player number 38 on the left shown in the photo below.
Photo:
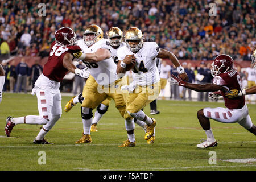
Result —
<path fill-rule="evenodd" d="M 74 46 L 77 44 L 76 33 L 69 27 L 61 27 L 55 32 L 56 43 L 63 46 Z"/>

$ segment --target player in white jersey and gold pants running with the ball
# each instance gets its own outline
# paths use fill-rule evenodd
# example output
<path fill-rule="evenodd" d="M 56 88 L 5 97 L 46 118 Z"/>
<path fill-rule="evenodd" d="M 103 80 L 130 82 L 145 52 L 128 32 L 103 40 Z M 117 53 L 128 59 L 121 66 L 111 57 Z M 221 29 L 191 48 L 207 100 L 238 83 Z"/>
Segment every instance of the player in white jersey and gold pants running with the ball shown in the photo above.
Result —
<path fill-rule="evenodd" d="M 160 49 L 155 42 L 143 42 L 143 34 L 139 28 L 131 27 L 127 30 L 125 43 L 126 47 L 121 47 L 117 51 L 119 59 L 117 65 L 118 76 L 122 77 L 131 68 L 130 63 L 133 62 L 125 59 L 127 55 L 135 57 L 136 61 L 133 68 L 135 86 L 133 90 L 129 89 L 130 93 L 127 98 L 126 111 L 133 118 L 144 121 L 147 124 L 144 139 L 150 140 L 154 135 L 156 120 L 148 117 L 141 109 L 154 101 L 160 93 L 160 76 L 158 68 L 154 63 L 154 58 L 170 59 L 176 66 L 182 80 L 188 80 L 188 76 L 173 53 Z M 126 143 L 133 142 L 127 140 Z"/>

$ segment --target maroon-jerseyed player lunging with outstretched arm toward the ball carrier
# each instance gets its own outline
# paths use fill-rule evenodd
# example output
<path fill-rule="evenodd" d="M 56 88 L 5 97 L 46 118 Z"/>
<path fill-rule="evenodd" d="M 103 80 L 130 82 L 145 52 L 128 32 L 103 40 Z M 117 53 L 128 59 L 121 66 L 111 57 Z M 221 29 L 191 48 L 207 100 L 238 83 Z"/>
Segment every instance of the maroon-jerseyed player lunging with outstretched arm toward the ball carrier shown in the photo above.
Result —
<path fill-rule="evenodd" d="M 207 140 L 197 144 L 198 148 L 208 148 L 217 146 L 217 141 L 214 139 L 212 129 L 210 129 L 210 119 L 214 119 L 223 123 L 238 122 L 248 131 L 256 135 L 256 127 L 251 122 L 247 106 L 245 104 L 245 96 L 236 98 L 228 98 L 225 92 L 231 89 L 242 90 L 241 78 L 236 69 L 233 68 L 233 59 L 228 55 L 218 55 L 212 63 L 212 76 L 214 77 L 212 84 L 191 84 L 182 81 L 172 75 L 172 79 L 179 86 L 184 86 L 197 92 L 213 92 L 210 95 L 222 95 L 224 97 L 226 108 L 204 108 L 197 112 L 197 118 L 200 125 L 203 127 Z"/>

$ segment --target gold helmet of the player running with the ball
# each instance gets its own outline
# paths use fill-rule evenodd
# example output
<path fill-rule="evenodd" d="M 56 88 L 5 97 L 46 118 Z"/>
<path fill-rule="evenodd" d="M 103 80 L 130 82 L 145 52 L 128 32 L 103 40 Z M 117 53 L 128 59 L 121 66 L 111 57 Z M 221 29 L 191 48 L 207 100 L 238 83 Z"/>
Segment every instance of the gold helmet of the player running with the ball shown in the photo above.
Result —
<path fill-rule="evenodd" d="M 129 44 L 130 40 L 139 40 L 138 44 Z M 136 52 L 142 47 L 142 42 L 143 42 L 143 34 L 142 31 L 139 30 L 137 27 L 131 27 L 127 32 L 125 33 L 125 43 L 128 48 L 132 52 Z"/>

